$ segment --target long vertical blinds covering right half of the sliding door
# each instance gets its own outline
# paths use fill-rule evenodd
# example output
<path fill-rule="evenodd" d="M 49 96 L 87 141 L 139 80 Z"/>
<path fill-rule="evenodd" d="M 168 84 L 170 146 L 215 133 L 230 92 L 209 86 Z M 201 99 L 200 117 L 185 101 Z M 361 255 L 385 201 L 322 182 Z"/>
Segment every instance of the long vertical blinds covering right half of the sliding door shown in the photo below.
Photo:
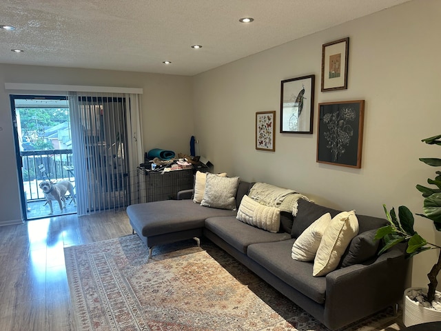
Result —
<path fill-rule="evenodd" d="M 69 93 L 79 215 L 130 205 L 143 162 L 139 94 Z"/>

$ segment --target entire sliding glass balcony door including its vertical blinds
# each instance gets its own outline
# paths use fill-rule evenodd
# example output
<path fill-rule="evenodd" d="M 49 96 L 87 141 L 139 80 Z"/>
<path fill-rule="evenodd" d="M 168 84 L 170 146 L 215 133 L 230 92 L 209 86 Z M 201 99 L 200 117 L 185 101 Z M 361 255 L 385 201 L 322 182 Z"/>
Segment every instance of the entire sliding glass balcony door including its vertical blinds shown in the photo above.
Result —
<path fill-rule="evenodd" d="M 42 181 L 67 180 L 73 197 L 53 214 L 119 210 L 136 192 L 143 162 L 141 98 L 137 93 L 65 92 L 68 96 L 10 95 L 23 218 L 48 217 Z M 131 192 L 131 188 L 134 191 Z M 69 200 L 70 199 L 70 200 Z M 30 205 L 43 205 L 37 215 Z"/>

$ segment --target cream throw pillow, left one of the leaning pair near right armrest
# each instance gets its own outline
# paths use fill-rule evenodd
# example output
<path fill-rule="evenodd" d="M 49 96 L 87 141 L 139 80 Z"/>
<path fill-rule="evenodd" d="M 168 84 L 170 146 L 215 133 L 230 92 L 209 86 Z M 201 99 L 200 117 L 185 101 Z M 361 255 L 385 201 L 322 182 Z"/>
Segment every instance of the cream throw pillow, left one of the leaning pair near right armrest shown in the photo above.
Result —
<path fill-rule="evenodd" d="M 298 261 L 312 261 L 316 257 L 318 246 L 326 228 L 331 223 L 331 214 L 327 212 L 309 225 L 294 241 L 291 257 Z"/>

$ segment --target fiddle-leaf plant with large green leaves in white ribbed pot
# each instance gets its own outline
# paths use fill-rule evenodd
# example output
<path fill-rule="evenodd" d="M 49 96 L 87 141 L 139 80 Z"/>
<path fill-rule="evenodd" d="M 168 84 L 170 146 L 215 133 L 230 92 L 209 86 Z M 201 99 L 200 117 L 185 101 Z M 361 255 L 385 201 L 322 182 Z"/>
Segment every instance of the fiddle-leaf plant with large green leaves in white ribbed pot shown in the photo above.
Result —
<path fill-rule="evenodd" d="M 441 146 L 441 134 L 435 137 L 423 139 L 424 143 L 429 145 L 438 145 Z M 420 161 L 434 166 L 441 166 L 441 159 L 438 158 L 420 158 Z M 423 185 L 416 185 L 416 188 L 422 192 L 422 196 L 424 197 L 423 211 L 424 214 L 418 214 L 427 219 L 431 219 L 433 221 L 433 225 L 435 225 L 435 229 L 441 231 L 441 171 L 436 171 L 435 179 L 427 179 L 427 183 L 434 185 L 431 188 L 428 188 Z M 435 245 L 434 243 L 427 242 L 426 239 L 422 238 L 418 232 L 413 230 L 413 214 L 404 205 L 401 205 L 398 208 L 398 217 L 396 215 L 395 209 L 392 208 L 390 212 L 387 212 L 387 208 L 383 205 L 384 212 L 386 213 L 387 220 L 389 221 L 389 225 L 384 226 L 383 228 L 378 229 L 376 233 L 376 239 L 384 240 L 384 247 L 380 250 L 378 254 L 382 254 L 383 252 L 389 250 L 389 248 L 394 245 L 402 242 L 407 243 L 407 257 L 411 258 L 420 252 L 424 252 L 425 250 L 440 250 L 438 255 L 438 261 L 433 265 L 427 277 L 429 278 L 429 284 L 426 292 L 422 293 L 422 298 L 424 301 L 430 303 L 431 305 L 435 305 L 435 294 L 436 287 L 438 285 L 437 276 L 441 271 L 441 247 L 439 245 Z M 406 292 L 407 293 L 407 292 Z M 406 295 L 404 296 L 404 312 L 406 310 Z M 421 301 L 421 297 L 419 298 Z M 427 304 L 426 304 L 427 305 Z M 422 306 L 416 308 L 420 310 L 418 315 L 423 314 Z M 433 320 L 441 320 L 441 311 L 438 317 L 434 317 Z M 418 323 L 418 322 L 417 322 Z M 422 322 L 420 322 L 422 323 Z M 406 316 L 404 315 L 404 324 L 406 323 Z M 412 325 L 411 322 L 409 322 Z M 409 325 L 407 325 L 409 326 Z"/>

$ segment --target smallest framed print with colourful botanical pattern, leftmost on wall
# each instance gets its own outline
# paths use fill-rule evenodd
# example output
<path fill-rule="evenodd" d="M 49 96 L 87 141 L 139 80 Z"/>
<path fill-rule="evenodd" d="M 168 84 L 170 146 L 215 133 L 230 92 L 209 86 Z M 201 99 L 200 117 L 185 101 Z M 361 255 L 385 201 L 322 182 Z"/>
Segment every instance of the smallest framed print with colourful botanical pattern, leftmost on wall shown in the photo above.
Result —
<path fill-rule="evenodd" d="M 275 130 L 276 110 L 256 112 L 256 150 L 276 150 Z"/>

